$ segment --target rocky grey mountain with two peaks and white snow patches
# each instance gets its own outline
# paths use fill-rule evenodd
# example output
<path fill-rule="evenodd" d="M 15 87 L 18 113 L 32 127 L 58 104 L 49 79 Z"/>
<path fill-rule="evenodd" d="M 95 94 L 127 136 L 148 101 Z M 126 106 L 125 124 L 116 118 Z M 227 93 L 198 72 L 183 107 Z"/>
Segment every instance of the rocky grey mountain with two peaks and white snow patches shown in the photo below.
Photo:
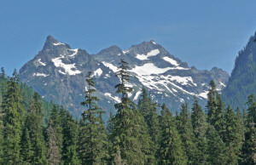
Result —
<path fill-rule="evenodd" d="M 105 111 L 114 111 L 114 103 L 119 102 L 114 88 L 119 78 L 114 72 L 118 70 L 120 59 L 131 66 L 131 83 L 126 84 L 134 89 L 131 100 L 137 102 L 144 86 L 155 102 L 166 103 L 172 111 L 178 111 L 183 101 L 191 103 L 194 96 L 205 105 L 208 83 L 215 81 L 221 90 L 229 79 L 229 74 L 217 67 L 211 71 L 189 67 L 154 41 L 133 45 L 127 50 L 114 45 L 98 54 L 88 54 L 49 36 L 44 48 L 21 67 L 20 80 L 44 99 L 65 105 L 74 116 L 79 116 L 84 111 L 80 105 L 86 88 L 84 76 L 93 71 L 96 95 L 101 99 L 99 105 Z"/>

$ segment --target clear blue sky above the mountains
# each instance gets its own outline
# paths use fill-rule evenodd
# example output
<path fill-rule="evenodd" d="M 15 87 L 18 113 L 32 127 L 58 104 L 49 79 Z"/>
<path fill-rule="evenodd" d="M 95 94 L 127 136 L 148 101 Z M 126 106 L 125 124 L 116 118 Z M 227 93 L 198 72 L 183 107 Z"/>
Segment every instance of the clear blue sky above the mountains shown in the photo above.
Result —
<path fill-rule="evenodd" d="M 52 35 L 90 54 L 153 39 L 190 66 L 230 72 L 256 31 L 255 8 L 255 0 L 0 0 L 0 67 L 19 70 Z"/>

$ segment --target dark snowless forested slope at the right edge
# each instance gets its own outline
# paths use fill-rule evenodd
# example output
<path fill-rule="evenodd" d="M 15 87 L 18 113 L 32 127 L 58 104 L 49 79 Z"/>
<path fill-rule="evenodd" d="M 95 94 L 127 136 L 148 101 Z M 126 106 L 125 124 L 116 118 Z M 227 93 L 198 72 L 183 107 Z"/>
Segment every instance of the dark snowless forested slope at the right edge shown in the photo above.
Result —
<path fill-rule="evenodd" d="M 246 108 L 247 96 L 256 94 L 256 32 L 236 57 L 229 83 L 222 92 L 226 104 Z"/>

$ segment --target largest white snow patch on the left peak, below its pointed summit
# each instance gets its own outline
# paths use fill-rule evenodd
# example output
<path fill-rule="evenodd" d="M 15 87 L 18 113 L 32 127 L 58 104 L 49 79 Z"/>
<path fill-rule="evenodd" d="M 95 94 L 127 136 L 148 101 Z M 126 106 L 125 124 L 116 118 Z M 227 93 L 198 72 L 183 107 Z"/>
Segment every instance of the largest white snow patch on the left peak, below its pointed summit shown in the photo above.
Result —
<path fill-rule="evenodd" d="M 60 57 L 57 57 L 55 59 L 52 59 L 52 62 L 54 63 L 54 65 L 56 67 L 62 67 L 65 71 L 59 71 L 61 74 L 69 74 L 69 75 L 77 75 L 77 74 L 80 74 L 81 71 L 79 70 L 76 70 L 76 66 L 75 66 L 75 63 L 73 64 L 64 64 L 62 63 L 62 60 L 61 59 L 64 59 L 64 55 L 61 55 Z"/>

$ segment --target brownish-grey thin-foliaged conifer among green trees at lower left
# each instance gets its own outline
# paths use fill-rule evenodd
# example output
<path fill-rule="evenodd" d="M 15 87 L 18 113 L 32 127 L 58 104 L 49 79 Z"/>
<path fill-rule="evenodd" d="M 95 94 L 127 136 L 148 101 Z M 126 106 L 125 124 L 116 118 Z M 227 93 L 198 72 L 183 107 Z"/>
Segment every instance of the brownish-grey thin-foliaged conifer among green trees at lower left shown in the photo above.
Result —
<path fill-rule="evenodd" d="M 59 164 L 61 162 L 61 152 L 57 144 L 57 134 L 55 128 L 52 127 L 53 122 L 49 119 L 48 134 L 48 163 L 50 165 Z"/>

